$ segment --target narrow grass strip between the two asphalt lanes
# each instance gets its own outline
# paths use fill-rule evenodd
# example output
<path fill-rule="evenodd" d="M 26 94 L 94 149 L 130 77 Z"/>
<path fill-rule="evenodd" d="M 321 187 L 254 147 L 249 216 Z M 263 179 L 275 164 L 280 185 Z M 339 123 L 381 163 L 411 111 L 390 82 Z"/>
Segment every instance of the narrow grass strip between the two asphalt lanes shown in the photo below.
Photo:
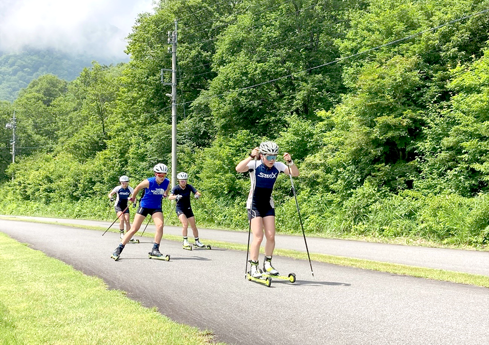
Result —
<path fill-rule="evenodd" d="M 0 217 L 0 218 L 12 219 L 7 217 Z M 57 223 L 57 222 L 56 223 L 39 222 L 39 221 L 24 220 L 18 218 L 16 218 L 16 220 L 22 220 L 25 222 L 33 222 L 33 223 L 51 223 L 51 224 L 66 225 L 66 226 L 73 226 L 79 228 L 80 227 L 87 228 L 91 230 L 105 231 L 105 230 L 101 230 L 101 228 L 97 226 L 85 226 L 85 225 L 81 226 L 81 225 L 73 225 L 69 223 Z M 110 229 L 109 231 L 118 232 L 117 229 Z M 141 232 L 142 231 L 139 231 L 137 234 L 140 235 Z M 144 233 L 143 236 L 151 238 L 154 236 L 154 234 Z M 178 241 L 178 242 L 181 241 L 180 236 L 164 234 L 163 238 L 169 241 Z M 207 239 L 205 240 L 205 244 L 209 244 L 212 247 L 246 251 L 246 245 L 244 244 L 212 241 Z M 261 247 L 260 252 L 263 253 L 263 250 L 264 250 L 263 247 Z M 274 255 L 285 256 L 285 257 L 299 259 L 299 260 L 308 260 L 307 253 L 295 251 L 295 250 L 289 250 L 289 249 L 275 248 Z M 393 264 L 393 263 L 348 258 L 348 257 L 341 257 L 341 256 L 327 255 L 327 254 L 317 254 L 317 253 L 311 253 L 311 260 L 322 262 L 322 263 L 328 263 L 328 264 L 350 266 L 350 267 L 356 267 L 361 269 L 388 272 L 393 274 L 407 275 L 407 276 L 425 278 L 425 279 L 433 279 L 433 280 L 439 280 L 439 281 L 445 281 L 445 282 L 451 282 L 457 284 L 469 284 L 475 286 L 489 287 L 488 276 L 472 274 L 472 273 L 454 272 L 454 271 L 447 271 L 447 270 L 436 269 L 436 268 L 417 267 L 417 266 L 409 266 L 404 264 Z"/>

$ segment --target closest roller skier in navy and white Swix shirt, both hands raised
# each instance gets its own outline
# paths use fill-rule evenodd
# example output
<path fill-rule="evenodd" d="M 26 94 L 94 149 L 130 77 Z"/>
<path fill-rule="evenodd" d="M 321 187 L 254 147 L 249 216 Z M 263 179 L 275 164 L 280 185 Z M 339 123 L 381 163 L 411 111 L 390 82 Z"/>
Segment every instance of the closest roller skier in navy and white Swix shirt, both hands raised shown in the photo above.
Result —
<path fill-rule="evenodd" d="M 292 161 L 290 154 L 285 152 L 283 157 L 289 167 L 277 162 L 278 145 L 275 142 L 262 142 L 255 147 L 249 157 L 239 162 L 236 171 L 249 172 L 251 188 L 246 202 L 250 231 L 253 233 L 253 241 L 250 246 L 251 269 L 248 272 L 248 280 L 259 281 L 269 286 L 269 278 L 289 279 L 295 282 L 295 275 L 280 276 L 278 270 L 272 265 L 273 250 L 275 249 L 275 205 L 272 191 L 278 174 L 284 173 L 293 177 L 299 176 L 299 169 Z M 258 255 L 260 244 L 265 234 L 265 257 L 263 271 L 259 268 Z M 293 278 L 292 278 L 293 275 Z M 286 278 L 287 277 L 287 278 Z"/>

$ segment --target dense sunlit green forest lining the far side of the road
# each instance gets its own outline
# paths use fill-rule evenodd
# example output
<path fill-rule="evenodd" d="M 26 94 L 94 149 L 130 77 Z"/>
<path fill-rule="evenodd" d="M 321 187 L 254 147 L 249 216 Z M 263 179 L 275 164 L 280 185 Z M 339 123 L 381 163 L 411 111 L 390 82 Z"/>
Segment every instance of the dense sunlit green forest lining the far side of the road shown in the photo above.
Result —
<path fill-rule="evenodd" d="M 178 19 L 178 171 L 205 196 L 201 222 L 246 227 L 249 180 L 235 166 L 273 140 L 299 167 L 309 233 L 484 245 L 488 9 L 473 0 L 161 1 L 137 20 L 128 63 L 94 63 L 70 82 L 42 76 L 0 104 L 3 122 L 16 110 L 21 147 L 2 176 L 2 211 L 105 217 L 119 175 L 135 185 L 156 162 L 170 165 L 160 69 L 171 68 L 166 32 Z M 11 132 L 0 135 L 6 166 Z M 277 228 L 300 231 L 287 177 L 274 196 Z"/>

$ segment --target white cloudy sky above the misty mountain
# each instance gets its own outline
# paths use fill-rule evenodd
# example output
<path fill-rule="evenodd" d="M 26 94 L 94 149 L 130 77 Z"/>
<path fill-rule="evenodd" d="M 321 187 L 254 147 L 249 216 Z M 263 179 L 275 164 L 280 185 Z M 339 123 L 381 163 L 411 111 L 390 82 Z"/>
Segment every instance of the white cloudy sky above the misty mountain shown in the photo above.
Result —
<path fill-rule="evenodd" d="M 0 50 L 54 47 L 127 59 L 125 37 L 154 0 L 0 0 Z"/>

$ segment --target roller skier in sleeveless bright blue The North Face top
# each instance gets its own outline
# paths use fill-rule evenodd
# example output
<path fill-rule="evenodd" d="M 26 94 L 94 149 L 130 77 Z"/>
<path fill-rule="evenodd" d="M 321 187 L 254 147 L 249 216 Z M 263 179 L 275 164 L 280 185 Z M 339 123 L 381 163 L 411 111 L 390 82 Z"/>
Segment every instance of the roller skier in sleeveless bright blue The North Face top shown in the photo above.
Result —
<path fill-rule="evenodd" d="M 139 183 L 134 189 L 129 201 L 134 203 L 136 196 L 141 189 L 144 189 L 144 196 L 141 198 L 139 207 L 137 208 L 136 215 L 134 216 L 133 227 L 126 235 L 122 238 L 121 243 L 115 249 L 111 258 L 115 261 L 119 260 L 120 254 L 124 249 L 124 246 L 129 242 L 129 239 L 139 230 L 141 224 L 143 223 L 146 216 L 149 214 L 153 218 L 153 222 L 156 226 L 155 232 L 155 243 L 153 244 L 153 249 L 148 253 L 150 259 L 159 259 L 169 261 L 170 256 L 163 255 L 159 251 L 159 244 L 163 236 L 163 211 L 161 210 L 161 201 L 168 195 L 170 190 L 170 180 L 166 178 L 168 172 L 168 167 L 159 163 L 153 168 L 155 173 L 154 177 L 150 177 Z"/>

